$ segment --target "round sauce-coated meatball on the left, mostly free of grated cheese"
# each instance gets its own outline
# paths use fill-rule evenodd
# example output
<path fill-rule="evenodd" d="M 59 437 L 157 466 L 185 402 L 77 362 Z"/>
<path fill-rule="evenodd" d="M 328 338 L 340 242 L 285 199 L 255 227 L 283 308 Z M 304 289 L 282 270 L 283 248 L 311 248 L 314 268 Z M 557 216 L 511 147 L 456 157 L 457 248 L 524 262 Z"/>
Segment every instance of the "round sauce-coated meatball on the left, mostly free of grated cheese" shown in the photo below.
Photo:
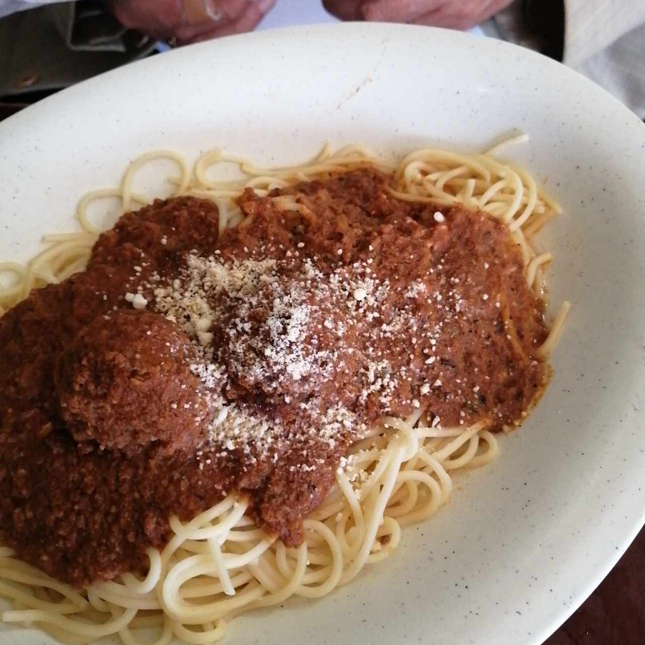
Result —
<path fill-rule="evenodd" d="M 55 366 L 61 417 L 79 442 L 128 454 L 153 441 L 190 450 L 208 417 L 194 360 L 186 334 L 158 313 L 100 315 Z"/>

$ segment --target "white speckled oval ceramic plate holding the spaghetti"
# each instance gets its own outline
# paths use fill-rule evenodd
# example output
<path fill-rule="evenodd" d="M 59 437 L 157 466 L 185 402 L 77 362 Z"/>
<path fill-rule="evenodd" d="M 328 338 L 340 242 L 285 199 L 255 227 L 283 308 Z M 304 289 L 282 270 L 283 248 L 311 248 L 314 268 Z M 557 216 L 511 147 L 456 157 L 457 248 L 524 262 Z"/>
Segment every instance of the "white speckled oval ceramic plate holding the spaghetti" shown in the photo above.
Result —
<path fill-rule="evenodd" d="M 0 124 L 0 257 L 18 260 L 150 148 L 220 145 L 275 164 L 327 140 L 481 150 L 517 130 L 531 143 L 511 154 L 566 209 L 544 235 L 551 297 L 573 303 L 546 396 L 387 562 L 317 602 L 236 619 L 224 642 L 538 644 L 615 564 L 645 510 L 645 126 L 520 48 L 362 24 L 177 50 Z"/>

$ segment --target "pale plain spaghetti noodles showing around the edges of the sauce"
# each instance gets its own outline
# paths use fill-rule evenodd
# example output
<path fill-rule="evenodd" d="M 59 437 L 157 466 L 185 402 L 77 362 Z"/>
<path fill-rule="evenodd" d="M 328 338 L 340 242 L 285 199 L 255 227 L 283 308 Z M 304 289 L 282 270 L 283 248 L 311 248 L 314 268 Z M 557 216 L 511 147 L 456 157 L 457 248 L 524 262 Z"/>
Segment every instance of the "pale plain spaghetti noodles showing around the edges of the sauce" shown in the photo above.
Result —
<path fill-rule="evenodd" d="M 507 143 L 525 140 L 517 137 Z M 521 249 L 528 285 L 544 297 L 544 268 L 552 256 L 535 250 L 532 237 L 560 209 L 526 171 L 493 158 L 502 146 L 481 155 L 429 148 L 413 152 L 397 166 L 383 163 L 362 146 L 346 146 L 335 153 L 325 146 L 308 163 L 272 170 L 219 149 L 201 155 L 192 168 L 173 151 L 142 155 L 130 165 L 119 188 L 97 190 L 81 199 L 77 219 L 82 232 L 46 236 L 48 248 L 27 266 L 0 264 L 0 272 L 15 275 L 14 283 L 0 290 L 0 314 L 33 288 L 82 270 L 101 232 L 90 217 L 90 204 L 117 198 L 126 212 L 150 203 L 146 195 L 135 192 L 135 175 L 143 164 L 160 158 L 179 168 L 179 175 L 170 178 L 178 195 L 217 204 L 220 232 L 243 221 L 233 200 L 244 188 L 264 196 L 275 188 L 364 166 L 393 172 L 397 186 L 392 194 L 399 199 L 464 203 L 506 224 Z M 213 170 L 222 163 L 235 164 L 242 178 L 213 179 Z M 286 208 L 302 209 L 288 196 L 284 199 Z M 543 357 L 557 343 L 568 308 L 568 303 L 562 305 L 539 348 Z M 513 343 L 515 332 L 512 321 L 508 323 Z M 421 409 L 406 419 L 382 419 L 341 460 L 335 486 L 305 519 L 305 539 L 297 548 L 287 548 L 255 526 L 246 514 L 248 501 L 235 493 L 189 522 L 171 517 L 172 538 L 163 550 L 148 550 L 146 575 L 123 574 L 83 592 L 55 581 L 2 547 L 0 595 L 11 601 L 12 608 L 1 619 L 37 624 L 58 640 L 78 644 L 118 634 L 126 645 L 135 645 L 137 633 L 144 629 L 157 630 L 159 645 L 174 636 L 194 644 L 214 642 L 223 637 L 226 622 L 240 613 L 280 604 L 292 595 L 321 597 L 352 581 L 367 564 L 386 559 L 399 545 L 404 526 L 427 519 L 448 501 L 451 471 L 482 466 L 495 458 L 497 439 L 488 426 L 488 419 L 482 419 L 467 428 L 442 428 L 428 422 Z"/>

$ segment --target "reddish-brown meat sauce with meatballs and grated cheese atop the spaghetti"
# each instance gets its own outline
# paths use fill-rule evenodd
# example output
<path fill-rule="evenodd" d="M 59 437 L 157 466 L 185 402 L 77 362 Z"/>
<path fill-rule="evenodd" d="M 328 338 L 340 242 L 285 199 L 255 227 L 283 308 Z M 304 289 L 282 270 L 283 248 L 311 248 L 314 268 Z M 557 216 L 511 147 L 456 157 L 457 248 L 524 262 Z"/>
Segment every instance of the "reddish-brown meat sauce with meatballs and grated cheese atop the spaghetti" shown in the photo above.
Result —
<path fill-rule="evenodd" d="M 508 229 L 371 169 L 217 207 L 155 201 L 0 319 L 0 535 L 82 587 L 235 490 L 288 545 L 384 415 L 493 430 L 546 380 Z"/>

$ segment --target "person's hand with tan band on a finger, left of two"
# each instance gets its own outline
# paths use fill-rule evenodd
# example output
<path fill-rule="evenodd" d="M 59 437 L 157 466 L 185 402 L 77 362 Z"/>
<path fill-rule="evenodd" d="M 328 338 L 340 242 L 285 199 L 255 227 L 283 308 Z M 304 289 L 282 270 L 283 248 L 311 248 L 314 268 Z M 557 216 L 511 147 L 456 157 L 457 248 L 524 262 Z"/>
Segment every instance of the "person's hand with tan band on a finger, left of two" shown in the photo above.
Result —
<path fill-rule="evenodd" d="M 109 0 L 116 19 L 179 45 L 252 31 L 275 0 Z"/>

